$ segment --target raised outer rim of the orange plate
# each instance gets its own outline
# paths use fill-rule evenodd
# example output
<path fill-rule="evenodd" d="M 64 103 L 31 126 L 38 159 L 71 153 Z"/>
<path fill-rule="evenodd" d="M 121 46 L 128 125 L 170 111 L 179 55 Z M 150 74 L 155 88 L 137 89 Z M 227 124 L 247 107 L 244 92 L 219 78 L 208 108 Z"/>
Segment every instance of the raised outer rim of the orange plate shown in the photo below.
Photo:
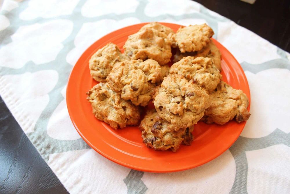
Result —
<path fill-rule="evenodd" d="M 119 29 L 117 29 L 117 30 L 114 30 L 114 31 L 111 31 L 110 33 L 107 33 L 107 34 L 105 34 L 104 36 L 102 36 L 101 38 L 99 38 L 99 39 L 97 39 L 96 41 L 94 41 L 89 47 L 87 47 L 86 49 L 85 49 L 85 51 L 81 54 L 81 56 L 78 58 L 78 60 L 77 60 L 77 62 L 75 63 L 75 65 L 77 64 L 77 63 L 79 63 L 80 62 L 80 60 L 81 60 L 81 58 L 84 56 L 84 54 L 90 49 L 90 48 L 92 48 L 93 47 L 93 45 L 95 44 L 95 42 L 97 42 L 97 41 L 99 41 L 100 39 L 102 39 L 102 38 L 104 38 L 104 37 L 106 37 L 107 35 L 109 35 L 109 34 L 111 34 L 111 33 L 114 33 L 114 32 L 116 32 L 116 31 L 119 31 L 119 30 L 121 30 L 121 29 L 124 29 L 124 28 L 130 28 L 130 27 L 132 27 L 132 26 L 136 26 L 136 25 L 141 25 L 141 24 L 148 24 L 148 23 L 150 23 L 150 22 L 143 22 L 143 23 L 138 23 L 138 24 L 133 24 L 133 25 L 129 25 L 129 26 L 125 26 L 125 27 L 123 27 L 123 28 L 119 28 Z M 174 24 L 174 25 L 179 25 L 179 26 L 182 26 L 182 25 L 180 25 L 180 24 L 175 24 L 175 23 L 168 23 L 168 22 L 158 22 L 158 23 L 160 23 L 160 24 Z M 238 60 L 233 56 L 233 54 L 226 48 L 226 47 L 224 47 L 220 42 L 218 42 L 216 39 L 214 39 L 214 38 L 211 38 L 214 42 L 217 42 L 218 44 L 220 44 L 225 50 L 226 50 L 226 52 L 227 52 L 227 54 L 229 54 L 230 56 L 231 56 L 231 58 L 233 59 L 233 60 L 235 60 L 235 62 L 238 64 L 238 68 L 241 70 L 241 72 L 242 72 L 242 75 L 243 75 L 243 77 L 244 77 L 244 81 L 245 81 L 245 83 L 247 84 L 247 89 L 248 89 L 248 91 L 249 91 L 249 96 L 248 96 L 248 98 L 249 98 L 249 106 L 248 106 L 248 108 L 247 108 L 247 110 L 249 111 L 250 110 L 250 105 L 251 105 L 251 91 L 250 91 L 250 87 L 249 87 L 249 83 L 248 83 L 248 80 L 247 80 L 247 77 L 246 77 L 246 75 L 245 75 L 245 72 L 244 72 L 244 70 L 243 70 L 243 68 L 242 68 L 242 66 L 240 65 L 240 63 L 238 62 Z M 73 73 L 73 71 L 74 71 L 74 69 L 75 69 L 75 67 L 76 66 L 73 66 L 73 68 L 72 68 L 72 70 L 70 71 L 70 74 L 69 74 L 69 77 L 68 77 L 68 81 L 67 81 L 67 89 L 66 89 L 66 105 L 67 105 L 67 109 L 68 109 L 68 114 L 69 114 L 69 116 L 70 116 L 70 120 L 71 120 L 71 122 L 73 123 L 73 126 L 75 127 L 75 129 L 77 130 L 77 132 L 79 133 L 79 135 L 81 136 L 81 138 L 92 148 L 92 149 L 94 149 L 96 152 L 98 152 L 99 154 L 101 154 L 103 157 L 105 157 L 106 159 L 108 159 L 108 160 L 110 160 L 110 161 L 112 161 L 112 162 L 114 162 L 114 163 L 117 163 L 117 164 L 119 164 L 119 165 L 122 165 L 122 166 L 124 166 L 124 167 L 127 167 L 127 168 L 131 168 L 131 169 L 133 169 L 133 170 L 139 170 L 139 171 L 143 171 L 143 172 L 153 172 L 153 173 L 169 173 L 169 172 L 179 172 L 179 171 L 183 171 L 183 170 L 189 170 L 189 169 L 192 169 L 192 168 L 196 168 L 196 167 L 198 167 L 198 166 L 201 166 L 201 165 L 204 165 L 204 164 L 206 164 L 206 163 L 208 163 L 208 162 L 210 162 L 210 161 L 212 161 L 212 160 L 214 160 L 214 159 L 216 159 L 218 156 L 220 156 L 220 155 L 222 155 L 224 152 L 226 152 L 226 150 L 228 150 L 235 142 L 236 142 L 236 140 L 240 137 L 240 134 L 242 133 L 242 131 L 244 130 L 244 127 L 245 127 L 245 124 L 246 124 L 246 122 L 247 121 L 245 121 L 245 122 L 243 122 L 243 123 L 241 123 L 241 125 L 242 125 L 242 130 L 240 131 L 240 133 L 239 133 L 239 135 L 235 138 L 235 140 L 231 143 L 231 145 L 229 145 L 225 150 L 223 150 L 222 152 L 218 152 L 217 154 L 215 154 L 215 155 L 213 155 L 213 157 L 210 157 L 210 159 L 208 159 L 208 161 L 207 162 L 204 162 L 204 163 L 200 163 L 200 164 L 198 164 L 198 165 L 192 165 L 192 166 L 190 166 L 190 167 L 179 167 L 179 168 L 173 168 L 173 169 L 168 169 L 168 170 L 151 170 L 151 169 L 149 169 L 149 168 L 144 168 L 144 167 L 136 167 L 135 165 L 131 165 L 131 164 L 128 164 L 128 163 L 125 163 L 125 162 L 122 162 L 122 161 L 120 161 L 120 160 L 118 160 L 118 159 L 115 159 L 114 157 L 112 157 L 112 156 L 110 156 L 110 155 L 108 155 L 108 154 L 106 154 L 106 153 L 104 153 L 104 152 L 102 152 L 101 150 L 99 150 L 97 147 L 95 147 L 92 143 L 90 143 L 90 141 L 89 140 L 87 140 L 87 138 L 81 133 L 81 131 L 79 130 L 79 128 L 77 127 L 77 125 L 75 124 L 75 122 L 74 122 L 74 120 L 73 120 L 73 118 L 72 118 L 72 112 L 71 112 L 71 110 L 70 110 L 70 106 L 69 106 L 69 102 L 70 102 L 70 100 L 69 100 L 69 97 L 68 97 L 68 91 L 69 91 L 69 85 L 70 85 L 70 82 L 71 82 L 71 75 L 72 75 L 72 73 Z"/>

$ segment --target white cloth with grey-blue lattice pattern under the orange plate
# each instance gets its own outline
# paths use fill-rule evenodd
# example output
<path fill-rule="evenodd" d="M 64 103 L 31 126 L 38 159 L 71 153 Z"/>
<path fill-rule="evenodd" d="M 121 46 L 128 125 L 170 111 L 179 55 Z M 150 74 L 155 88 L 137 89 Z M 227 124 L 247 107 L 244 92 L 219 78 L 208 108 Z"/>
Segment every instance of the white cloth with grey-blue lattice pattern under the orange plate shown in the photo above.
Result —
<path fill-rule="evenodd" d="M 209 24 L 242 65 L 251 117 L 217 159 L 174 173 L 115 164 L 80 138 L 66 83 L 85 49 L 140 22 Z M 5 0 L 0 12 L 0 95 L 70 193 L 290 193 L 290 55 L 189 0 Z"/>

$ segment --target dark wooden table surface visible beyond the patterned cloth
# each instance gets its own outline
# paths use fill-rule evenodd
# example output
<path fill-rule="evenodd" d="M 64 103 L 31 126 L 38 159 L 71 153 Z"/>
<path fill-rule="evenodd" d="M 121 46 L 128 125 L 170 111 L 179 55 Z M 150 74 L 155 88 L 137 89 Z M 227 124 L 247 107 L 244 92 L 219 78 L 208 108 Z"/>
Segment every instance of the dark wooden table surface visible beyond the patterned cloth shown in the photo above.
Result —
<path fill-rule="evenodd" d="M 195 0 L 290 52 L 290 1 Z M 0 193 L 68 193 L 0 97 Z"/>

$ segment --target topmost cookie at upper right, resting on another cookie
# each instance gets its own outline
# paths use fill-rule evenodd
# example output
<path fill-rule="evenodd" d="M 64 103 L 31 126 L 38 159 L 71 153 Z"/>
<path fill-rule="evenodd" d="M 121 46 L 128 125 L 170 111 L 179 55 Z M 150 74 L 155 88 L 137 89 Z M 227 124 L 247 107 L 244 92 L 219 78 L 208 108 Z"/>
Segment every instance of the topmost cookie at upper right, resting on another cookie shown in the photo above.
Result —
<path fill-rule="evenodd" d="M 182 53 L 200 51 L 206 47 L 214 32 L 206 24 L 181 26 L 171 37 L 171 45 L 178 47 Z"/>

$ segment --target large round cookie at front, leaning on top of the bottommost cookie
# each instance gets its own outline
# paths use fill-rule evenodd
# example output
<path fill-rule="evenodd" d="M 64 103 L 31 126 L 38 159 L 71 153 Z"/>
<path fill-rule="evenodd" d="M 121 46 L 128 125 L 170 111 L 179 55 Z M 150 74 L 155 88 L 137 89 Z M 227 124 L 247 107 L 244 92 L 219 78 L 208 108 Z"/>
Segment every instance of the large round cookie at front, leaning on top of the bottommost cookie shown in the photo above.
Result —
<path fill-rule="evenodd" d="M 185 128 L 203 117 L 208 101 L 209 95 L 194 80 L 188 81 L 181 74 L 169 74 L 157 92 L 154 106 L 162 119 L 176 128 Z"/>

